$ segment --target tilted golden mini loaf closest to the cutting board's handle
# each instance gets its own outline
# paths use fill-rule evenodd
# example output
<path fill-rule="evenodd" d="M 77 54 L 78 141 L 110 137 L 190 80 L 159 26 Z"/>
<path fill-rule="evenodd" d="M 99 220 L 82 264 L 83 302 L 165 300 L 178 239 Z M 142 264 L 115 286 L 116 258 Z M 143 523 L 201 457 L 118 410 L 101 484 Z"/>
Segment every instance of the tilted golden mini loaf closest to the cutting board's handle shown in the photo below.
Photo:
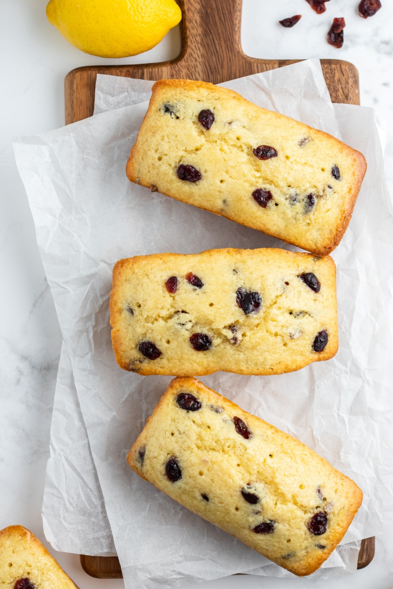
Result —
<path fill-rule="evenodd" d="M 331 135 L 190 80 L 154 84 L 127 163 L 137 184 L 318 255 L 341 240 L 365 170 Z"/>

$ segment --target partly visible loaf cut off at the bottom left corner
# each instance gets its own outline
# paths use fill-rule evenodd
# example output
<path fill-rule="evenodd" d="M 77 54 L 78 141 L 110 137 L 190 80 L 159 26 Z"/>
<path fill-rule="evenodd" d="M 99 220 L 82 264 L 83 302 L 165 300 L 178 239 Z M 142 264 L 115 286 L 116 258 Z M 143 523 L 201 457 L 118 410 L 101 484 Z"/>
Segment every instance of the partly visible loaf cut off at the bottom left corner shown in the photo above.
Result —
<path fill-rule="evenodd" d="M 0 531 L 0 587 L 78 589 L 38 538 L 21 525 Z"/>

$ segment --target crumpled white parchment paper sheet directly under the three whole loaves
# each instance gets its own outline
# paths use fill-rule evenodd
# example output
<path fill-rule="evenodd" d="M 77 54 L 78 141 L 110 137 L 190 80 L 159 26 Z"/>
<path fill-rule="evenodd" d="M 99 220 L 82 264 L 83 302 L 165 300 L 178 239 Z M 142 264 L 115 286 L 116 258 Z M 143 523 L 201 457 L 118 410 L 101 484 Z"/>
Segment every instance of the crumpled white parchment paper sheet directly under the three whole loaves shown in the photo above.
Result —
<path fill-rule="evenodd" d="M 303 71 L 298 66 L 278 70 L 276 78 L 270 74 L 273 106 L 279 104 L 280 91 L 289 88 L 290 111 L 280 111 L 336 133 L 331 104 L 323 99 L 318 104 L 310 64 L 304 64 Z M 251 98 L 247 90 L 255 92 L 261 77 L 243 81 L 242 94 Z M 307 80 L 305 92 L 302 80 Z M 267 92 L 260 94 L 259 104 L 272 107 L 264 102 Z M 312 100 L 306 108 L 308 95 Z M 303 116 L 296 114 L 296 101 L 302 104 Z M 17 140 L 15 153 L 124 577 L 126 583 L 132 575 L 134 581 L 153 587 L 163 579 L 170 585 L 249 571 L 266 561 L 128 471 L 126 452 L 169 379 L 130 375 L 115 365 L 107 310 L 111 268 L 118 258 L 140 253 L 280 242 L 130 185 L 124 165 L 145 109 L 146 105 L 136 105 L 106 112 L 62 130 Z M 339 267 L 338 355 L 289 375 L 217 373 L 203 380 L 296 435 L 358 482 L 365 500 L 345 538 L 350 541 L 377 531 L 378 513 L 387 499 L 386 346 L 391 338 L 387 252 L 392 249 L 392 216 L 374 113 L 359 107 L 345 109 L 354 114 L 342 117 L 342 137 L 365 153 L 369 170 L 350 230 L 333 255 Z M 323 122 L 324 112 L 328 123 Z"/>

